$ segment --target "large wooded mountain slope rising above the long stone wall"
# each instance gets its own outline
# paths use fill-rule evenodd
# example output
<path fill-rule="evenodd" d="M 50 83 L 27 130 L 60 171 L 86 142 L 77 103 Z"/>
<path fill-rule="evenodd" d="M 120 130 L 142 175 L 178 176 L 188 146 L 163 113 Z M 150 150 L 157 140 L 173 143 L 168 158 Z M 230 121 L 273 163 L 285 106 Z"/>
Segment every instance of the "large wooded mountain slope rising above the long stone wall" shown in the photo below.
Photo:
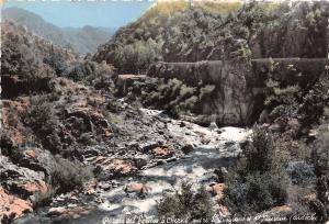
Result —
<path fill-rule="evenodd" d="M 212 11 L 205 5 L 158 3 L 117 31 L 93 58 L 122 72 L 140 72 L 158 60 L 327 57 L 321 46 L 328 42 L 324 37 L 328 4 L 253 2 L 220 8 L 216 3 Z"/>

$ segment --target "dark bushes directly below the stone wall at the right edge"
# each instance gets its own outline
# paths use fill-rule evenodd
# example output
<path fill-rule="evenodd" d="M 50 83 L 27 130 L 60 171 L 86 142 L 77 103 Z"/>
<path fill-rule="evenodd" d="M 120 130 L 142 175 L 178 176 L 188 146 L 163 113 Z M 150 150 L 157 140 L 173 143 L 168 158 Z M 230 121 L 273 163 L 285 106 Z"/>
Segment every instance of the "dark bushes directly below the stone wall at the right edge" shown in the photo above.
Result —
<path fill-rule="evenodd" d="M 272 74 L 270 77 L 276 72 L 275 68 L 269 70 Z M 302 88 L 298 83 L 291 86 L 270 78 L 264 90 L 264 105 L 270 111 L 271 121 L 295 117 L 302 123 L 302 127 L 309 128 L 314 124 L 319 124 L 325 107 L 329 102 L 328 89 L 328 71 L 306 88 Z"/>

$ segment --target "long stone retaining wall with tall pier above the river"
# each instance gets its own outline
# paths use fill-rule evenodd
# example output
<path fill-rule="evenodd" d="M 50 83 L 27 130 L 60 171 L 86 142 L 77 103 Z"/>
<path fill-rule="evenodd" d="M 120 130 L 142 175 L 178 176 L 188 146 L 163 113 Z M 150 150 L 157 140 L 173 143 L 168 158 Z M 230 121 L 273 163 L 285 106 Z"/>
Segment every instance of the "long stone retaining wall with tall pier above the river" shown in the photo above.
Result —
<path fill-rule="evenodd" d="M 177 78 L 189 86 L 216 86 L 213 102 L 204 105 L 201 114 L 217 116 L 225 125 L 254 122 L 262 110 L 264 81 L 269 76 L 286 85 L 302 87 L 314 83 L 329 68 L 327 58 L 260 58 L 251 64 L 222 60 L 197 63 L 157 63 L 148 76 Z M 275 72 L 270 72 L 274 69 Z M 273 75 L 271 75 L 273 74 Z"/>

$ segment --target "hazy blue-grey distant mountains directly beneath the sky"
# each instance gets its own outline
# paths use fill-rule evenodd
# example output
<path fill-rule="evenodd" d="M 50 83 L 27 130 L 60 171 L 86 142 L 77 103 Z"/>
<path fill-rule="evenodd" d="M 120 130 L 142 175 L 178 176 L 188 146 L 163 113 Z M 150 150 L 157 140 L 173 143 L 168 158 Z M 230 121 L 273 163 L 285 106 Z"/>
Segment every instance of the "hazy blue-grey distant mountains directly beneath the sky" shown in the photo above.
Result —
<path fill-rule="evenodd" d="M 58 27 L 46 22 L 39 15 L 20 8 L 7 8 L 2 11 L 3 20 L 12 20 L 26 26 L 33 33 L 63 47 L 71 47 L 79 54 L 93 53 L 114 33 L 110 27 Z"/>

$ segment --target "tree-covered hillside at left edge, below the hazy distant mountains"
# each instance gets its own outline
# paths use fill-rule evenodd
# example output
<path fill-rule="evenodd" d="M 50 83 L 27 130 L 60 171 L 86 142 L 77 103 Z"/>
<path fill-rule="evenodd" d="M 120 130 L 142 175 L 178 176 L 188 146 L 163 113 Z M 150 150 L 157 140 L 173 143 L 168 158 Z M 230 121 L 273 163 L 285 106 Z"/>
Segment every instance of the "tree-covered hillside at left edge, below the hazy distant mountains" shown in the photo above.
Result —
<path fill-rule="evenodd" d="M 1 27 L 2 75 L 19 76 L 29 81 L 55 77 L 75 58 L 71 52 L 33 36 L 22 25 L 7 21 Z"/>

